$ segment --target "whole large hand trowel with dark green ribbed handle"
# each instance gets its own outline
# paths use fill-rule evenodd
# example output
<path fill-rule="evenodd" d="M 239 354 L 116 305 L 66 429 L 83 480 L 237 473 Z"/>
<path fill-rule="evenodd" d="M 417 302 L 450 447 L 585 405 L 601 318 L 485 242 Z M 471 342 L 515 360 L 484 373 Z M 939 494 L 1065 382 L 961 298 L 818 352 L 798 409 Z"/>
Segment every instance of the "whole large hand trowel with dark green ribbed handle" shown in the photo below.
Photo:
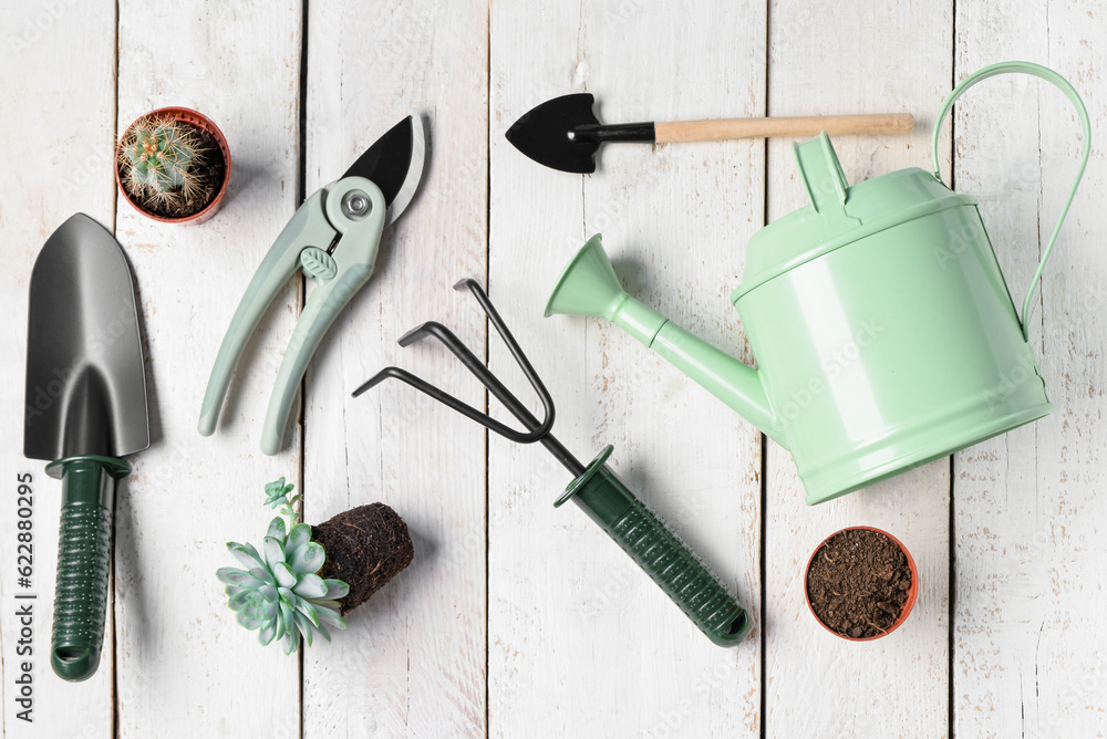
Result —
<path fill-rule="evenodd" d="M 76 215 L 34 262 L 23 455 L 62 481 L 50 664 L 71 681 L 100 666 L 115 481 L 149 446 L 131 266 L 114 237 Z"/>

